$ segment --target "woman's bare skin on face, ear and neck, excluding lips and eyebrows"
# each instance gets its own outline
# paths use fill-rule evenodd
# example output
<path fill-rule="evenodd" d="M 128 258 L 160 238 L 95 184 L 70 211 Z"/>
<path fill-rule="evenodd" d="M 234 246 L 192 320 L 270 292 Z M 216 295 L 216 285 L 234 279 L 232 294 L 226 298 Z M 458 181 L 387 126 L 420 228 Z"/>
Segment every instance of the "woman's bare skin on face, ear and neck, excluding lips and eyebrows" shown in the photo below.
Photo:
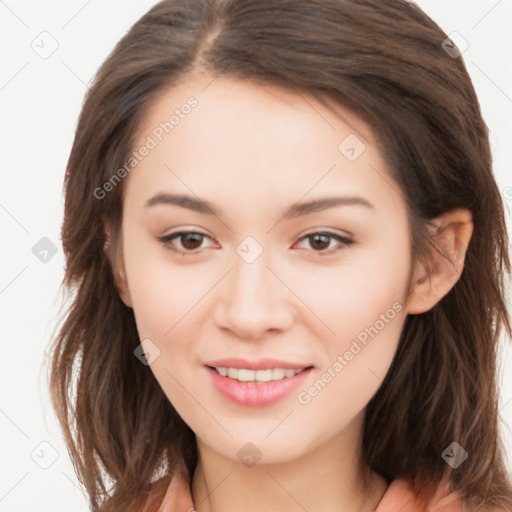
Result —
<path fill-rule="evenodd" d="M 140 339 L 159 350 L 151 371 L 197 437 L 194 506 L 373 511 L 387 482 L 376 473 L 368 485 L 361 479 L 365 407 L 407 315 L 432 308 L 459 278 L 471 215 L 437 219 L 436 236 L 455 264 L 439 258 L 429 280 L 413 267 L 407 205 L 362 121 L 339 107 L 343 121 L 306 94 L 212 78 L 194 75 L 169 89 L 144 119 L 137 147 L 188 97 L 198 101 L 126 178 L 117 260 L 119 293 Z M 355 139 L 348 153 L 340 150 L 349 135 L 364 150 L 350 151 Z M 201 198 L 217 212 L 145 206 L 163 192 Z M 371 206 L 283 217 L 297 202 L 332 195 Z M 206 236 L 157 239 L 179 231 Z M 305 237 L 326 231 L 352 243 Z M 248 236 L 254 242 L 242 247 L 263 251 L 250 263 L 237 251 Z M 355 352 L 352 342 L 370 326 L 377 333 Z M 336 371 L 340 355 L 346 364 Z M 245 406 L 212 386 L 204 365 L 225 357 L 313 370 L 276 403 Z M 319 379 L 328 382 L 315 394 Z M 251 467 L 240 456 L 247 443 L 261 456 Z"/>

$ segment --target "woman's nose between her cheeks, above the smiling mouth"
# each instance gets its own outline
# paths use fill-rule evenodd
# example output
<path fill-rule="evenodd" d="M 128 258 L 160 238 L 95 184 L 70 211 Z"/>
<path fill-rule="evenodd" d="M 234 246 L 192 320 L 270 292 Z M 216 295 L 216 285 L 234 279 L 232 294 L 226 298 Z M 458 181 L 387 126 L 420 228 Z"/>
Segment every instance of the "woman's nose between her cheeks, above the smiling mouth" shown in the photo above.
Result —
<path fill-rule="evenodd" d="M 260 339 L 293 323 L 293 293 L 268 265 L 263 252 L 252 263 L 235 254 L 234 267 L 219 287 L 215 323 L 242 339 Z"/>

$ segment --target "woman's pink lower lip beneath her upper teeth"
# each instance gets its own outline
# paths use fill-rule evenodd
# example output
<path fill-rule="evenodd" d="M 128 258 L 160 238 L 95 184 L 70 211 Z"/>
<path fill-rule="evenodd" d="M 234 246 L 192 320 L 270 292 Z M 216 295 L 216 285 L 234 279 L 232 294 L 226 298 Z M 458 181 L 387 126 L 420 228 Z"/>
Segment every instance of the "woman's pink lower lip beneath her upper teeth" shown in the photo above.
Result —
<path fill-rule="evenodd" d="M 300 386 L 312 370 L 312 368 L 308 368 L 293 377 L 257 383 L 240 382 L 236 379 L 223 377 L 210 367 L 206 367 L 206 369 L 217 391 L 237 404 L 250 407 L 261 407 L 281 400 Z"/>

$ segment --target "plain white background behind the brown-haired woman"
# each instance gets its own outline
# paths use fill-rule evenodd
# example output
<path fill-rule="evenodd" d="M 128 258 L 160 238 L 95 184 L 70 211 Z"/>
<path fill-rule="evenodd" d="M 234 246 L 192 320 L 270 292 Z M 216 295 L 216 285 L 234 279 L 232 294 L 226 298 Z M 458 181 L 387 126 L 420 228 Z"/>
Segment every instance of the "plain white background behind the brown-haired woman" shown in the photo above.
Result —
<path fill-rule="evenodd" d="M 114 44 L 155 3 L 0 0 L 0 512 L 88 510 L 49 404 L 43 366 L 63 277 L 62 184 L 87 84 Z M 463 57 L 491 131 L 495 172 L 510 208 L 512 2 L 416 3 L 446 33 L 457 31 L 469 43 Z M 43 31 L 58 44 L 47 59 L 31 47 Z M 57 247 L 46 263 L 32 252 L 43 237 Z M 511 354 L 510 348 L 503 353 L 500 380 L 509 467 Z M 55 462 L 40 467 L 52 462 L 54 453 Z"/>

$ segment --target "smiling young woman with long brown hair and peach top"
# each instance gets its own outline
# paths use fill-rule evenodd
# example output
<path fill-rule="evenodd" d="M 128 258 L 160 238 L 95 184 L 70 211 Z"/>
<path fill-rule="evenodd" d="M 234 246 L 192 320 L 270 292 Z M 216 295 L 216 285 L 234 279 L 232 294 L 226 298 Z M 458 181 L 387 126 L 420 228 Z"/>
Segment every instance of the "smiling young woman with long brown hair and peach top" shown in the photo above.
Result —
<path fill-rule="evenodd" d="M 50 382 L 94 510 L 510 508 L 507 233 L 445 41 L 396 0 L 166 0 L 118 43 Z"/>

